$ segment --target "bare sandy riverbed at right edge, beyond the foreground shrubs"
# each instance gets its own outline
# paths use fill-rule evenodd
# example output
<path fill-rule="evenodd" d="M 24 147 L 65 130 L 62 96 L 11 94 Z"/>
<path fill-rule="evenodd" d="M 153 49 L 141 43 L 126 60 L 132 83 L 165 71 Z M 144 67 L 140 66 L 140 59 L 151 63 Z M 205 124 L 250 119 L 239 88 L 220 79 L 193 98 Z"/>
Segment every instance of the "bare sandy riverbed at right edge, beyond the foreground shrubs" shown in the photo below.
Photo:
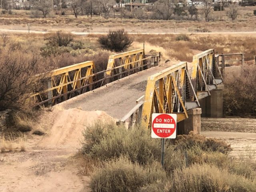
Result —
<path fill-rule="evenodd" d="M 230 154 L 256 163 L 256 119 L 201 118 L 201 134 L 231 144 Z"/>

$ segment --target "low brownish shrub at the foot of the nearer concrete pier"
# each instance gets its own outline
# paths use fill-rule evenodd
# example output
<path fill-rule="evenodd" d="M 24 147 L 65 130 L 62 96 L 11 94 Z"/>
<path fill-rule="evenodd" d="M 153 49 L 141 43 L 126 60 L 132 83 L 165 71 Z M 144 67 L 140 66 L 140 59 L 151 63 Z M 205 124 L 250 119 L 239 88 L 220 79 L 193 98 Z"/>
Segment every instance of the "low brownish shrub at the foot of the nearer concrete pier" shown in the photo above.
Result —
<path fill-rule="evenodd" d="M 190 132 L 188 135 L 178 135 L 175 147 L 176 149 L 189 149 L 199 146 L 202 150 L 218 151 L 227 153 L 232 150 L 231 146 L 224 141 L 215 138 L 206 138 L 205 136 Z"/>

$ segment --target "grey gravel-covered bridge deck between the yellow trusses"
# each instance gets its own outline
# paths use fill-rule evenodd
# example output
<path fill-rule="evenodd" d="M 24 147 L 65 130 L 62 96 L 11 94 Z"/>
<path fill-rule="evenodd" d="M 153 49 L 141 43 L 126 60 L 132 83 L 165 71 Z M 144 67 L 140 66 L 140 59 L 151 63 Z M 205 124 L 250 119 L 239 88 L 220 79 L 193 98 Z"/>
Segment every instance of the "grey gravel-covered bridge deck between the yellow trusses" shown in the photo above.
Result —
<path fill-rule="evenodd" d="M 148 76 L 173 64 L 165 64 L 141 71 L 107 84 L 104 88 L 76 96 L 59 105 L 65 109 L 80 107 L 86 111 L 101 110 L 116 119 L 121 119 L 136 105 L 136 100 L 145 94 Z"/>

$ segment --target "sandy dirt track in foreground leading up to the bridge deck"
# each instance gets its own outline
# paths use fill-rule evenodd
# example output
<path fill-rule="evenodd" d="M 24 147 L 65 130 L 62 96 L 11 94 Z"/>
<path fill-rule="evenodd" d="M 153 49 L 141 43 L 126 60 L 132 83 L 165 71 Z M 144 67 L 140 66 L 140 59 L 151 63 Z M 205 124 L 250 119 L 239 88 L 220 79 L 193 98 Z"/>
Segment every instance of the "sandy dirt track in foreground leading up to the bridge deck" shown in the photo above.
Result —
<path fill-rule="evenodd" d="M 45 136 L 28 136 L 25 152 L 0 154 L 0 191 L 89 191 L 90 179 L 80 174 L 76 153 L 85 125 L 98 119 L 112 117 L 78 108 L 45 112 L 39 120 Z"/>

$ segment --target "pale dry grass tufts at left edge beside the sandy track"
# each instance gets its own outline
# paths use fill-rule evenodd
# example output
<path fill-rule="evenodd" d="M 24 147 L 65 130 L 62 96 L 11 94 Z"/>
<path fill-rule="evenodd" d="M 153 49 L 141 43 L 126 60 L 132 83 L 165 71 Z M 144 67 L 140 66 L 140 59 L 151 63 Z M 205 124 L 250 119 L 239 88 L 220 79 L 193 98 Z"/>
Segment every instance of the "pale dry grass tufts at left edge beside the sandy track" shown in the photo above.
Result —
<path fill-rule="evenodd" d="M 0 152 L 26 151 L 26 135 L 18 133 L 8 133 L 0 136 Z"/>

